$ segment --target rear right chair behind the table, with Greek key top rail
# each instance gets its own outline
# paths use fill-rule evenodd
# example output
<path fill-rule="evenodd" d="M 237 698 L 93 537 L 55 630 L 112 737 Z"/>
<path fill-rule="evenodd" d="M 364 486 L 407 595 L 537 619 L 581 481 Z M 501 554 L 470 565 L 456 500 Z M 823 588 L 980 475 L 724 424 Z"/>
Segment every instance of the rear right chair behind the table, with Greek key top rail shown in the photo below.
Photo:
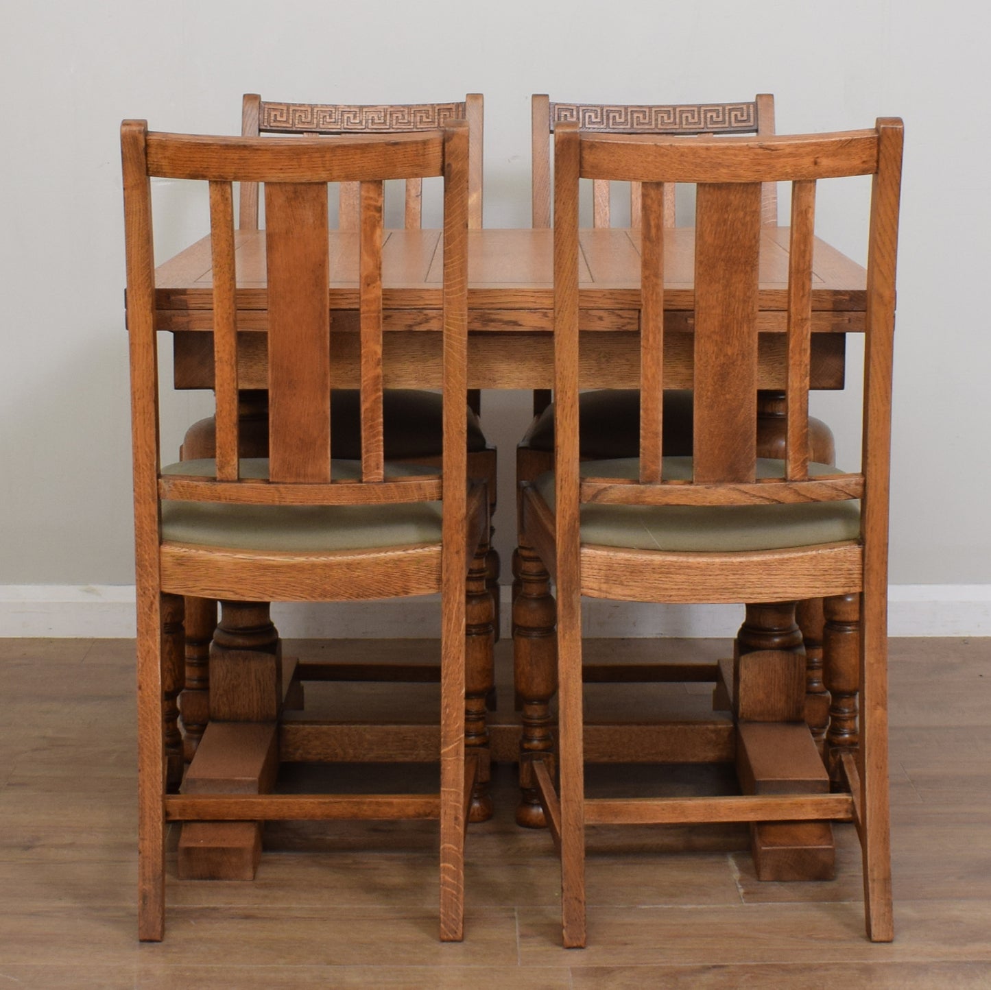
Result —
<path fill-rule="evenodd" d="M 616 104 L 552 102 L 545 94 L 531 99 L 532 135 L 532 222 L 534 227 L 551 223 L 551 144 L 559 124 L 577 124 L 582 131 L 595 134 L 652 134 L 672 138 L 774 134 L 774 96 L 758 93 L 752 100 L 702 104 Z M 628 192 L 629 229 L 640 227 L 640 183 L 630 181 Z M 592 221 L 596 228 L 607 228 L 614 220 L 611 210 L 610 183 L 594 179 L 591 186 Z M 588 195 L 589 189 L 585 189 Z M 676 226 L 675 183 L 664 186 L 662 223 Z M 778 194 L 774 182 L 761 188 L 761 223 L 778 223 Z M 625 219 L 625 217 L 623 218 Z M 633 233 L 634 240 L 638 233 Z M 554 466 L 555 407 L 551 392 L 535 391 L 534 418 L 516 448 L 517 515 L 519 486 L 532 482 Z M 672 456 L 692 453 L 693 400 L 690 389 L 664 390 L 664 446 Z M 780 390 L 761 389 L 757 398 L 757 451 L 760 457 L 779 458 L 785 446 L 785 397 Z M 579 396 L 579 449 L 585 460 L 612 457 L 636 457 L 639 453 L 640 393 L 635 388 L 599 388 L 583 391 Z M 813 460 L 832 464 L 835 445 L 832 431 L 821 419 L 809 419 L 810 455 Z M 522 711 L 523 741 L 520 760 L 521 797 L 517 809 L 519 825 L 540 827 L 546 824 L 528 760 L 532 753 L 546 751 L 551 745 L 548 731 L 550 694 L 553 685 L 534 671 L 546 666 L 545 655 L 552 650 L 548 621 L 552 606 L 547 593 L 547 573 L 538 558 L 519 550 L 513 556 L 513 602 L 522 614 L 514 626 L 524 630 L 517 636 L 519 662 L 515 668 L 517 708 Z M 522 596 L 522 598 L 520 598 Z M 797 611 L 797 615 L 796 615 Z M 822 744 L 826 734 L 829 695 L 823 683 L 822 637 L 824 626 L 821 602 L 781 605 L 748 604 L 739 640 L 744 649 L 763 648 L 768 643 L 804 648 L 809 667 L 807 699 L 810 723 Z M 543 635 L 538 630 L 543 630 Z M 533 655 L 534 662 L 528 657 Z M 586 665 L 591 681 L 679 681 L 686 676 L 706 678 L 701 667 L 684 664 L 639 664 L 635 671 L 615 664 Z M 644 731 L 648 727 L 643 726 Z M 662 730 L 663 731 L 663 730 Z M 596 743 L 589 743 L 590 757 L 596 755 Z M 774 855 L 769 853 L 769 855 Z M 822 875 L 831 869 L 831 853 L 820 855 L 816 868 Z M 766 865 L 765 865 L 766 864 Z M 787 853 L 787 864 L 794 866 L 795 856 Z M 766 878 L 788 879 L 787 864 L 771 866 L 762 861 Z M 794 872 L 796 878 L 808 876 L 809 866 Z"/>

